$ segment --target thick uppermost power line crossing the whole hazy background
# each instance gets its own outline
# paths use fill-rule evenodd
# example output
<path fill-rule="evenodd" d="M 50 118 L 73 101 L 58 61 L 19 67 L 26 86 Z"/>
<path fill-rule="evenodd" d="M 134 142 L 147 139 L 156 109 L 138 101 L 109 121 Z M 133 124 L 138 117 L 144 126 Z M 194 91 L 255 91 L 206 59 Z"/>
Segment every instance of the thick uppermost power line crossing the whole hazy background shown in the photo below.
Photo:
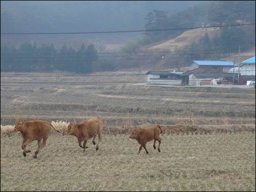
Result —
<path fill-rule="evenodd" d="M 251 24 L 235 24 L 235 25 L 219 25 L 211 27 L 190 27 L 190 28 L 173 28 L 173 29 L 151 29 L 151 30 L 127 30 L 127 31 L 94 31 L 94 32 L 59 32 L 59 33 L 1 33 L 1 35 L 59 35 L 59 34 L 98 34 L 98 33 L 131 33 L 131 32 L 152 32 L 152 31 L 173 31 L 173 30 L 192 30 L 192 29 L 208 29 L 208 28 L 222 28 L 222 27 L 238 27 L 249 26 Z"/>

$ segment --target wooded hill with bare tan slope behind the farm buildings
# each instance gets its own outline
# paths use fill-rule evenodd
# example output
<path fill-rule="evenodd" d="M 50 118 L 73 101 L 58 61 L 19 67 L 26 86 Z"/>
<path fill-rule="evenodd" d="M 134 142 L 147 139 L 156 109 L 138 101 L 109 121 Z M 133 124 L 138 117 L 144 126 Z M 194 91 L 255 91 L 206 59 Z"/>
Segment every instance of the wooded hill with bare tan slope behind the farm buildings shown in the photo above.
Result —
<path fill-rule="evenodd" d="M 133 59 L 140 56 L 141 50 L 162 53 L 152 55 L 153 61 L 134 62 L 133 66 L 138 68 L 179 69 L 191 60 L 223 59 L 238 53 L 239 47 L 241 52 L 251 52 L 255 47 L 255 1 L 212 1 L 171 16 L 162 10 L 153 10 L 147 14 L 146 20 L 148 32 L 125 44 L 123 51 Z M 184 29 L 194 26 L 202 28 Z M 208 26 L 223 27 L 204 28 Z M 151 31 L 159 28 L 183 30 Z"/>

